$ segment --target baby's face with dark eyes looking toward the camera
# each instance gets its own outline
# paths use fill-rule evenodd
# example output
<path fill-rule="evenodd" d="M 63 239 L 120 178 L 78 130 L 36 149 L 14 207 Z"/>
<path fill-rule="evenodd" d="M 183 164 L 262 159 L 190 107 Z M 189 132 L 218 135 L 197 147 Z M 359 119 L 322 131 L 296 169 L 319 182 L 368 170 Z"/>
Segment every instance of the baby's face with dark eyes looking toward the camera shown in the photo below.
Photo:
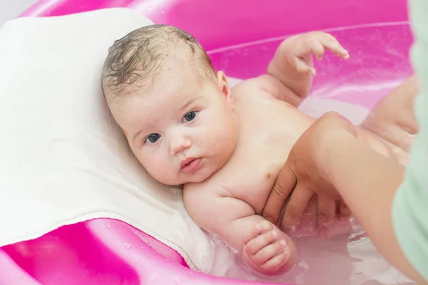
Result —
<path fill-rule="evenodd" d="M 167 72 L 150 93 L 127 99 L 113 114 L 134 155 L 167 185 L 207 179 L 228 161 L 238 140 L 224 73 L 213 81 L 198 77 Z"/>

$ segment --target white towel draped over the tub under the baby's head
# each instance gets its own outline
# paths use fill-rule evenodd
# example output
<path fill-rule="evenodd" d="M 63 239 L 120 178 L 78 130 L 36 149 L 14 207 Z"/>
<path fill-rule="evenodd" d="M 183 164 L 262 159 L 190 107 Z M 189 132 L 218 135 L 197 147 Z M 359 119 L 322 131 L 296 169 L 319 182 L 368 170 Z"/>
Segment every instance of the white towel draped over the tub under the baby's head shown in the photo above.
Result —
<path fill-rule="evenodd" d="M 190 219 L 178 187 L 146 174 L 106 108 L 108 47 L 148 24 L 104 9 L 0 28 L 0 247 L 104 217 L 151 234 L 200 271 L 225 252 Z"/>

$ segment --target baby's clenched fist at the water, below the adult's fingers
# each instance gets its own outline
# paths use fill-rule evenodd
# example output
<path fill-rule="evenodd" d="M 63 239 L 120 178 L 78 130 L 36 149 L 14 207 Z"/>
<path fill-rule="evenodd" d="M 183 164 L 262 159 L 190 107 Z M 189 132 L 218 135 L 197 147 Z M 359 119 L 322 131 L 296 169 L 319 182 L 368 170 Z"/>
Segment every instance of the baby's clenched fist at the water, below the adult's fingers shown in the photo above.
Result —
<path fill-rule="evenodd" d="M 244 237 L 243 259 L 262 274 L 279 274 L 295 265 L 295 244 L 272 223 L 263 221 Z"/>

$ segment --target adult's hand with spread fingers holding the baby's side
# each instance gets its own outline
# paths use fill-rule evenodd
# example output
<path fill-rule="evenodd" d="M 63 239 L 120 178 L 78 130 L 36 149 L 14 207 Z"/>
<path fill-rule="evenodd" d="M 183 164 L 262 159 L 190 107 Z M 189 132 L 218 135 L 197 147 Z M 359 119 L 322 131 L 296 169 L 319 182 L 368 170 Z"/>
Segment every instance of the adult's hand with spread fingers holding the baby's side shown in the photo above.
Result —
<path fill-rule="evenodd" d="M 329 227 L 337 205 L 343 215 L 350 210 L 332 186 L 325 167 L 328 154 L 342 147 L 344 139 L 357 138 L 354 125 L 342 115 L 330 112 L 322 115 L 295 142 L 284 167 L 270 192 L 263 217 L 276 223 L 285 200 L 291 195 L 282 217 L 282 229 L 296 227 L 313 195 L 318 199 L 318 225 Z"/>

